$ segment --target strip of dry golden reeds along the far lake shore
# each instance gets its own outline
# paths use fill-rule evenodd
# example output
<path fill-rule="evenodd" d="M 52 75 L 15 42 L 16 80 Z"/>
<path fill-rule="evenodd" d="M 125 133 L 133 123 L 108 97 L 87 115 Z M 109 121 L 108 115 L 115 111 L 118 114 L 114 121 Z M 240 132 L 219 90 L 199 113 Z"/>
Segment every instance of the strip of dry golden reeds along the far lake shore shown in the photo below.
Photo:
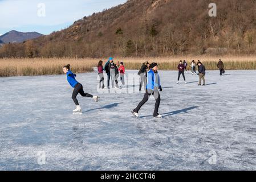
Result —
<path fill-rule="evenodd" d="M 114 57 L 114 61 L 123 61 L 126 69 L 140 69 L 141 63 L 156 61 L 161 70 L 177 70 L 177 64 L 180 60 L 186 60 L 189 64 L 192 60 L 202 61 L 207 70 L 216 70 L 220 57 Z M 224 56 L 221 59 L 225 63 L 225 69 L 256 69 L 256 56 Z M 0 59 L 0 77 L 9 76 L 37 76 L 37 75 L 59 75 L 62 74 L 62 68 L 66 64 L 71 64 L 71 69 L 75 73 L 84 73 L 93 71 L 100 59 L 70 59 L 70 58 L 36 58 L 36 59 Z M 107 58 L 101 59 L 104 61 Z"/>

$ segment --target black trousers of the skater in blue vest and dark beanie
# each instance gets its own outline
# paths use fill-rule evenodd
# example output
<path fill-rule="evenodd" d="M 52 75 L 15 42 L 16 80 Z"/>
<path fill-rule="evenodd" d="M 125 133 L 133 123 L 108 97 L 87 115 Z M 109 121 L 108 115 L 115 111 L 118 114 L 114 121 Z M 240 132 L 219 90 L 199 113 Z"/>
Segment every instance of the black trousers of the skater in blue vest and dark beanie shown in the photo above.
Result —
<path fill-rule="evenodd" d="M 144 94 L 144 97 L 143 97 L 143 100 L 139 103 L 139 105 L 136 107 L 136 109 L 133 110 L 133 112 L 139 113 L 140 108 L 148 101 L 151 94 L 155 97 L 155 100 L 156 100 L 155 110 L 154 110 L 153 116 L 157 117 L 157 115 L 159 115 L 158 112 L 159 112 L 159 106 L 160 106 L 160 102 L 161 102 L 161 98 L 160 98 L 160 94 L 159 94 L 158 90 L 155 90 L 155 91 L 146 90 L 146 92 Z"/>

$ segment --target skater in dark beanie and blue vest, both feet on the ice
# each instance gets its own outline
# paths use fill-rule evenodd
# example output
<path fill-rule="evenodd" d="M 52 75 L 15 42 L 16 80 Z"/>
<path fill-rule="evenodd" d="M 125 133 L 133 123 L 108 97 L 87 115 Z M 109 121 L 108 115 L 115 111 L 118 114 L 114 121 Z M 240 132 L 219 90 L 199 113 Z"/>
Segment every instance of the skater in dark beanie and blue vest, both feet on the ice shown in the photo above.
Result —
<path fill-rule="evenodd" d="M 152 63 L 150 67 L 151 67 L 151 70 L 148 72 L 148 84 L 146 86 L 146 92 L 144 94 L 144 98 L 136 107 L 136 109 L 132 111 L 132 114 L 136 118 L 139 118 L 139 114 L 138 114 L 139 110 L 148 101 L 151 94 L 155 97 L 155 100 L 156 100 L 153 117 L 162 118 L 162 115 L 158 113 L 160 101 L 161 101 L 159 90 L 162 91 L 162 87 L 160 84 L 160 77 L 158 73 L 158 65 L 157 63 Z"/>

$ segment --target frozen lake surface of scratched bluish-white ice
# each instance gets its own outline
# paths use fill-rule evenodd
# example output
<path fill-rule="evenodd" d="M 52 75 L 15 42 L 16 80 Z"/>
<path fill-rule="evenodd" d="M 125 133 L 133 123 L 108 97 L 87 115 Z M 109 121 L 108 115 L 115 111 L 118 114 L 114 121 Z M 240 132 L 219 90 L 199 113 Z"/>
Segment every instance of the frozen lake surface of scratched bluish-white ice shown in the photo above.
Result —
<path fill-rule="evenodd" d="M 160 71 L 162 119 L 155 100 L 133 118 L 143 93 L 98 93 L 96 77 L 77 76 L 101 97 L 78 96 L 81 115 L 65 75 L 0 78 L 0 170 L 256 169 L 256 71 L 208 71 L 205 87 Z"/>

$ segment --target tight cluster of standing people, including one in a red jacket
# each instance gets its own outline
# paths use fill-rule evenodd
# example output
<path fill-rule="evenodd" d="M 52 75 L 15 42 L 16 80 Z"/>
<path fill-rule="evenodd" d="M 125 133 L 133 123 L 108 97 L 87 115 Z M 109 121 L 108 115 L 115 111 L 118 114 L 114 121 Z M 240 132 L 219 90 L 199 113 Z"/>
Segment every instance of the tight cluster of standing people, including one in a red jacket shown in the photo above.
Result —
<path fill-rule="evenodd" d="M 111 86 L 112 88 L 124 88 L 125 87 L 125 67 L 123 62 L 117 62 L 117 64 L 114 63 L 113 58 L 109 57 L 107 63 L 105 63 L 103 67 L 103 61 L 99 61 L 97 65 L 98 74 L 100 77 L 100 84 L 99 88 L 104 89 L 104 75 L 103 72 L 107 73 L 107 89 L 110 89 L 110 80 L 111 80 Z M 121 80 L 121 86 L 118 85 L 118 78 L 120 76 Z"/>

